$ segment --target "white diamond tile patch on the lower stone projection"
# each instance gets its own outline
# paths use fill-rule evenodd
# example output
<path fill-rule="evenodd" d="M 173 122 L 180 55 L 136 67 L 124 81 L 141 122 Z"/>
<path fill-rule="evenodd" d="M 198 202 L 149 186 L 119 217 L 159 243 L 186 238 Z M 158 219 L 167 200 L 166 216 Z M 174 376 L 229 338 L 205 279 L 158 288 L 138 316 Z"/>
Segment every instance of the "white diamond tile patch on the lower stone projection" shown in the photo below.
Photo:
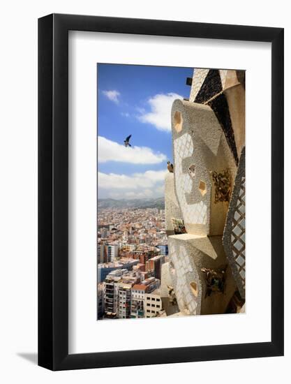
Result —
<path fill-rule="evenodd" d="M 170 259 L 174 265 L 174 291 L 180 311 L 189 311 L 191 315 L 197 314 L 197 301 L 191 292 L 189 281 L 193 280 L 193 268 L 184 246 L 175 246 L 172 242 L 170 246 Z"/>

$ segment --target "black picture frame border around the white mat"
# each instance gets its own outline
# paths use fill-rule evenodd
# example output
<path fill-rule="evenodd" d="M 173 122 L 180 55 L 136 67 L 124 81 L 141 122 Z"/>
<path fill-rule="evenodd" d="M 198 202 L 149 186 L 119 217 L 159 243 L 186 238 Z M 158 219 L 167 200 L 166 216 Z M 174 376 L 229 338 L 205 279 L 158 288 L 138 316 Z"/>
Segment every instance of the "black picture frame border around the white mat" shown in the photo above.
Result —
<path fill-rule="evenodd" d="M 68 354 L 68 31 L 271 43 L 271 341 Z M 38 365 L 52 370 L 283 355 L 282 28 L 52 14 L 38 20 Z"/>

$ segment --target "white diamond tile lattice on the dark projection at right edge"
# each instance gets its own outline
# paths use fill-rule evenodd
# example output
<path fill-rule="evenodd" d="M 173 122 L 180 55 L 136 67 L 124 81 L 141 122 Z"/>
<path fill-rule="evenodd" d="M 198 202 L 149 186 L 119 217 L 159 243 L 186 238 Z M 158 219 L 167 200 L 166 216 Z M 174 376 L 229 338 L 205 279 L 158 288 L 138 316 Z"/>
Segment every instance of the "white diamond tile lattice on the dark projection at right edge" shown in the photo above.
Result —
<path fill-rule="evenodd" d="M 246 220 L 245 220 L 245 195 L 246 195 L 246 178 L 241 178 L 241 189 L 239 198 L 237 199 L 237 207 L 234 212 L 232 221 L 232 256 L 234 257 L 237 272 L 241 276 L 242 286 L 246 286 Z"/>

